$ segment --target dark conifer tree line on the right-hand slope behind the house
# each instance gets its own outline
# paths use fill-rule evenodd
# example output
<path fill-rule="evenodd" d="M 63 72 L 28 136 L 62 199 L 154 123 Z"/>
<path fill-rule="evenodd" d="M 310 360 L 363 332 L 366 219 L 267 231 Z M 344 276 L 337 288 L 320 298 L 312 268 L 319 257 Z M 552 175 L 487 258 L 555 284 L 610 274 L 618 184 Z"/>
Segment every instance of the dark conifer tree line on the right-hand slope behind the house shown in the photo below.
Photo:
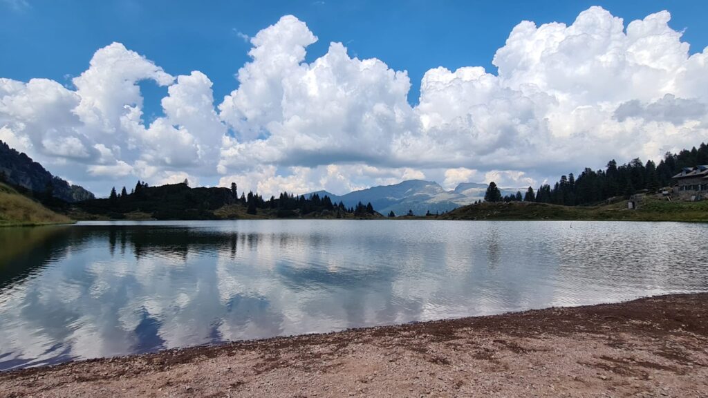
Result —
<path fill-rule="evenodd" d="M 561 176 L 560 180 L 543 184 L 537 191 L 529 187 L 523 195 L 502 197 L 495 183 L 490 183 L 484 200 L 486 202 L 525 201 L 553 203 L 555 205 L 592 205 L 617 196 L 629 196 L 639 191 L 657 192 L 660 188 L 671 185 L 672 177 L 685 167 L 708 164 L 708 145 L 698 148 L 683 149 L 677 154 L 667 152 L 659 164 L 649 160 L 644 163 L 636 158 L 627 164 L 617 164 L 615 159 L 607 162 L 605 169 L 593 170 L 586 167 L 580 175 L 571 173 Z"/>

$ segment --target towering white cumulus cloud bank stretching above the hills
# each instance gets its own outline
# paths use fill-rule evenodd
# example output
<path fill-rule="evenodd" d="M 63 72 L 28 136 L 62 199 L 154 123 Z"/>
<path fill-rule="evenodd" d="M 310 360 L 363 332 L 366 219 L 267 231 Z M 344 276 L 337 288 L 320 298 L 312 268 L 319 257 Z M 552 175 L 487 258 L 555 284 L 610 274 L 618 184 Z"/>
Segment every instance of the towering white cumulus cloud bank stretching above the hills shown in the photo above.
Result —
<path fill-rule="evenodd" d="M 0 79 L 0 140 L 89 187 L 137 178 L 236 181 L 265 195 L 406 178 L 526 186 L 708 140 L 708 48 L 691 55 L 669 21 L 662 11 L 625 28 L 600 7 L 571 25 L 523 21 L 494 55 L 496 74 L 430 69 L 415 106 L 405 71 L 350 57 L 340 42 L 305 62 L 318 39 L 294 16 L 250 39 L 251 61 L 216 103 L 202 72 L 171 76 L 113 43 L 70 87 Z M 150 123 L 144 80 L 168 90 Z"/>

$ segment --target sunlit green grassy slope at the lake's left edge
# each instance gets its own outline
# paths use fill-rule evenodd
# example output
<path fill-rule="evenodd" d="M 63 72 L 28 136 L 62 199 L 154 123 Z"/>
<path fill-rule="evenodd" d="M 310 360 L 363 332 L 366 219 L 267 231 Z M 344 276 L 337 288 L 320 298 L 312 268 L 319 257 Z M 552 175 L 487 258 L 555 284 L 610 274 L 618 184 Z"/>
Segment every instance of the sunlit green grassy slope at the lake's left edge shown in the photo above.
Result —
<path fill-rule="evenodd" d="M 63 224 L 72 222 L 40 203 L 0 183 L 0 227 L 12 225 Z"/>

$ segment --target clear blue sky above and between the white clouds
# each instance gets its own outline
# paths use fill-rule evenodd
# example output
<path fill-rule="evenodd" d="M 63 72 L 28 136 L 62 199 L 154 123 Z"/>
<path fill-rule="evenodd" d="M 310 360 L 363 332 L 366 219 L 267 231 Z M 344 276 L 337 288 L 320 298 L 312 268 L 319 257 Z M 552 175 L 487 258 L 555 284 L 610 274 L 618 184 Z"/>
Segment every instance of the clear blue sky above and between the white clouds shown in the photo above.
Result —
<path fill-rule="evenodd" d="M 494 52 L 517 23 L 572 23 L 590 6 L 603 6 L 625 24 L 666 9 L 672 28 L 685 30 L 692 52 L 708 45 L 708 1 L 2 2 L 0 76 L 68 82 L 68 76 L 84 72 L 96 49 L 117 41 L 171 74 L 204 72 L 217 99 L 236 88 L 234 74 L 249 60 L 250 45 L 239 33 L 253 36 L 286 14 L 307 23 L 319 38 L 308 48 L 308 61 L 324 55 L 329 42 L 343 42 L 353 57 L 376 57 L 407 70 L 413 104 L 426 70 L 479 65 L 494 72 Z M 147 113 L 160 113 L 166 90 L 155 87 L 144 84 Z"/>

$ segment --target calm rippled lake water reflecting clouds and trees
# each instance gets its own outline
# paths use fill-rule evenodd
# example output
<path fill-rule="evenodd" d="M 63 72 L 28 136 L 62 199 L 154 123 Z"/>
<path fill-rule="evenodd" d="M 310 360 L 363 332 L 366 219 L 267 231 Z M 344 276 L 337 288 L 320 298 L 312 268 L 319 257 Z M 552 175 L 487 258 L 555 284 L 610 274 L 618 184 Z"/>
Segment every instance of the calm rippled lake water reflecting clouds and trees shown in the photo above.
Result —
<path fill-rule="evenodd" d="M 0 229 L 0 370 L 708 290 L 708 224 L 264 220 Z"/>

